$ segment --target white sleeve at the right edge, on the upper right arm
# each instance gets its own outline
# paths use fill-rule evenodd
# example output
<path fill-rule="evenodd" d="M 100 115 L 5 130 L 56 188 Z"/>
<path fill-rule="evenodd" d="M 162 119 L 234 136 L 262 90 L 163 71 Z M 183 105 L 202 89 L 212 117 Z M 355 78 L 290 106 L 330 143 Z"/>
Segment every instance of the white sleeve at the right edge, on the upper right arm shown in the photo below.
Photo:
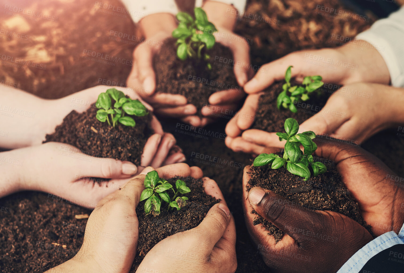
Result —
<path fill-rule="evenodd" d="M 370 29 L 358 34 L 375 47 L 389 69 L 391 85 L 404 87 L 404 6 L 386 19 L 376 21 Z"/>

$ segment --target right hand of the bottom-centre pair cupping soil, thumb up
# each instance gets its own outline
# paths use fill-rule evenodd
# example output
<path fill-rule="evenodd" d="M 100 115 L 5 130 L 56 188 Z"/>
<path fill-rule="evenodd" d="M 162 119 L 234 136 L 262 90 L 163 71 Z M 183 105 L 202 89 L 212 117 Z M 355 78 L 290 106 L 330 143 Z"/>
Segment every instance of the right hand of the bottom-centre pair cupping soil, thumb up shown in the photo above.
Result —
<path fill-rule="evenodd" d="M 171 235 L 156 244 L 136 272 L 236 271 L 234 218 L 216 182 L 207 177 L 203 179 L 205 192 L 221 202 L 210 208 L 198 227 Z"/>

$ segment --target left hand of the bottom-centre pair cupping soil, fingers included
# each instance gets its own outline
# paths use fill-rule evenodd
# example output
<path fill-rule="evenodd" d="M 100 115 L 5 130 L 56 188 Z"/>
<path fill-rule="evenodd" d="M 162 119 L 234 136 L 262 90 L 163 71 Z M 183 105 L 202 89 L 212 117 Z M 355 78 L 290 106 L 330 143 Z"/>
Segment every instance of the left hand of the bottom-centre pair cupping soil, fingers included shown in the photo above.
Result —
<path fill-rule="evenodd" d="M 147 167 L 130 179 L 121 190 L 102 199 L 88 218 L 83 245 L 72 259 L 47 271 L 128 273 L 135 259 L 139 222 L 139 204 Z M 156 169 L 166 178 L 178 176 L 202 177 L 202 170 L 179 163 Z M 168 174 L 168 175 L 167 175 Z"/>

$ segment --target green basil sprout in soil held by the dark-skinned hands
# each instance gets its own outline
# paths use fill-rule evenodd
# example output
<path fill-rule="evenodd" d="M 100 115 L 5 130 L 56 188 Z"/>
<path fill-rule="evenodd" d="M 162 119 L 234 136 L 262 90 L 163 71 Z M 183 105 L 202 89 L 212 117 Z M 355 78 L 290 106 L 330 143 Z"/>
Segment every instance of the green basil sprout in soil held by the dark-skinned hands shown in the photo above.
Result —
<path fill-rule="evenodd" d="M 255 158 L 253 165 L 264 166 L 272 163 L 272 169 L 279 169 L 284 166 L 292 174 L 303 177 L 304 181 L 307 181 L 311 176 L 309 166 L 313 170 L 314 176 L 326 172 L 326 166 L 321 162 L 314 162 L 313 155 L 311 155 L 317 149 L 316 143 L 312 141 L 316 134 L 313 131 L 296 134 L 298 130 L 299 124 L 295 119 L 288 118 L 285 120 L 286 133 L 276 133 L 280 141 L 286 140 L 283 157 L 273 153 L 261 153 Z M 303 154 L 300 145 L 304 147 Z"/>

